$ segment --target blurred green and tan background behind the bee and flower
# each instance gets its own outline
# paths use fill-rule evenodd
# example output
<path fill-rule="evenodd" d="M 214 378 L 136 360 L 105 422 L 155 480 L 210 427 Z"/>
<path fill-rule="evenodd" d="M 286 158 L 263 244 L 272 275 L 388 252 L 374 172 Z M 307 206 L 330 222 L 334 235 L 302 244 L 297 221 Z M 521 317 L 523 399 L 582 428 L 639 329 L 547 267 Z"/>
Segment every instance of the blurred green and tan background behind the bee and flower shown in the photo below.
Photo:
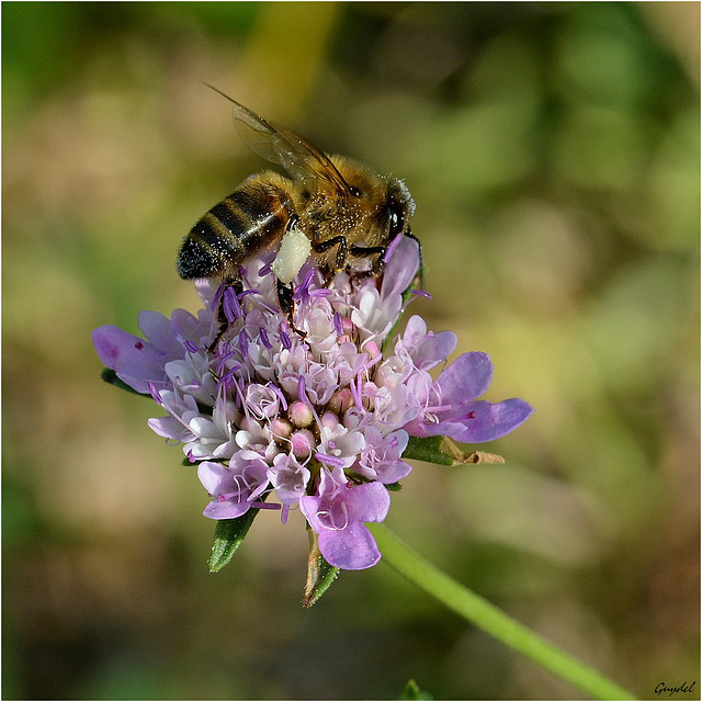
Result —
<path fill-rule="evenodd" d="M 580 693 L 388 566 L 301 605 L 263 513 L 210 575 L 207 496 L 94 327 L 195 310 L 191 225 L 267 165 L 211 82 L 407 180 L 414 310 L 536 412 L 417 464 L 386 523 L 644 698 L 700 684 L 699 3 L 3 3 L 4 699 Z"/>

